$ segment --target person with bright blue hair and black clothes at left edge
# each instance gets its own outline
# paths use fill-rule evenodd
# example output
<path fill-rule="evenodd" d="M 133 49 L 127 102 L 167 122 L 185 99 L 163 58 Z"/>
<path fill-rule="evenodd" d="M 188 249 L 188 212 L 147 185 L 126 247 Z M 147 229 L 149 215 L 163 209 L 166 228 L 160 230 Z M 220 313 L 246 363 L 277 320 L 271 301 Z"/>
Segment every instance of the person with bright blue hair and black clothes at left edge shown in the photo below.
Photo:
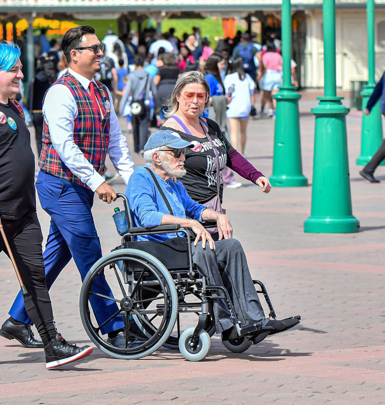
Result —
<path fill-rule="evenodd" d="M 16 339 L 24 347 L 44 348 L 46 367 L 52 369 L 90 355 L 92 348 L 67 343 L 56 330 L 44 272 L 43 237 L 36 212 L 35 157 L 23 109 L 12 98 L 20 91 L 23 77 L 18 45 L 0 43 L 0 218 L 28 292 L 23 295 L 27 313 L 42 341 L 35 339 L 31 325 L 12 317 L 2 324 L 0 335 Z M 4 240 L 0 241 L 2 251 L 7 254 Z"/>

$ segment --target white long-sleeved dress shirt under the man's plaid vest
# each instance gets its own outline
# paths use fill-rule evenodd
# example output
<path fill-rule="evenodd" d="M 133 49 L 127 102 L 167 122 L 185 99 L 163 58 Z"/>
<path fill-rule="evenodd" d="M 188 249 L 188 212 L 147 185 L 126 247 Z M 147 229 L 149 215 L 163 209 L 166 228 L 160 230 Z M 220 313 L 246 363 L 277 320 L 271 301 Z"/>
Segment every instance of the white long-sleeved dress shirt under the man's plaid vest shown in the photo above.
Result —
<path fill-rule="evenodd" d="M 71 68 L 68 71 L 86 91 L 89 91 L 90 81 L 88 79 L 80 76 Z M 92 81 L 94 82 L 94 79 Z M 110 91 L 108 89 L 107 91 L 111 104 L 110 143 L 107 153 L 116 171 L 127 184 L 134 171 L 134 163 L 129 155 L 126 139 L 121 133 Z M 49 127 L 52 145 L 60 159 L 75 176 L 87 184 L 92 191 L 95 191 L 105 179 L 93 168 L 74 141 L 74 126 L 78 112 L 71 90 L 62 84 L 51 86 L 45 95 L 42 111 L 44 121 Z"/>

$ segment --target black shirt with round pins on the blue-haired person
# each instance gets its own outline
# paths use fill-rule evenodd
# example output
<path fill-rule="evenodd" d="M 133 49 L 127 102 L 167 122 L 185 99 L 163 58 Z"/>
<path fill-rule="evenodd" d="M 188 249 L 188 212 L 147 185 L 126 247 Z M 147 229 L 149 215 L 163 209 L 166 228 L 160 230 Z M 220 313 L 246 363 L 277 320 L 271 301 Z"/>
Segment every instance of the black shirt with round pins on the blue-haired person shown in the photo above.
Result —
<path fill-rule="evenodd" d="M 0 218 L 19 220 L 36 211 L 35 156 L 20 111 L 0 103 Z"/>

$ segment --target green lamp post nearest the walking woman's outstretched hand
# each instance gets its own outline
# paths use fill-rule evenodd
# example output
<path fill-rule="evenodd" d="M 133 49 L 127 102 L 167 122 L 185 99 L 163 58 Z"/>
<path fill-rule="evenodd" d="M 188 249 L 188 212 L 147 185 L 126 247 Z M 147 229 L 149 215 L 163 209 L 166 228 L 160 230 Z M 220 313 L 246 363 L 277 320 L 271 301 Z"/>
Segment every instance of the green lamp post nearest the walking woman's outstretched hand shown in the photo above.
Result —
<path fill-rule="evenodd" d="M 298 100 L 301 98 L 291 85 L 291 7 L 290 0 L 282 1 L 282 57 L 283 80 L 277 100 L 273 173 L 269 178 L 273 186 L 300 187 L 308 185 L 302 174 L 300 119 Z"/>

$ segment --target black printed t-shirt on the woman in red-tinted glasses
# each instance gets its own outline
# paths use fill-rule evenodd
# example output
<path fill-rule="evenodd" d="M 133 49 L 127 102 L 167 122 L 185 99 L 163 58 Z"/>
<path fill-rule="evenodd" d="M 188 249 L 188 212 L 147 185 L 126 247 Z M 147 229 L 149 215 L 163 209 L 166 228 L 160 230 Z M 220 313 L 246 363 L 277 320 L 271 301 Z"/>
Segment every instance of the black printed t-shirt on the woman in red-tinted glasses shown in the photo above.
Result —
<path fill-rule="evenodd" d="M 219 170 L 221 171 L 227 164 L 227 153 L 233 147 L 214 121 L 207 119 L 207 123 L 209 125 L 208 133 L 211 140 L 217 145 Z M 199 138 L 169 127 L 161 127 L 160 129 L 174 131 L 182 139 L 194 144 L 193 148 L 187 148 L 186 152 L 185 169 L 187 170 L 187 174 L 179 180 L 182 181 L 193 200 L 200 204 L 211 200 L 211 198 L 217 195 L 217 162 L 215 152 L 208 138 Z M 221 172 L 219 172 L 219 180 L 222 202 L 223 178 Z"/>

